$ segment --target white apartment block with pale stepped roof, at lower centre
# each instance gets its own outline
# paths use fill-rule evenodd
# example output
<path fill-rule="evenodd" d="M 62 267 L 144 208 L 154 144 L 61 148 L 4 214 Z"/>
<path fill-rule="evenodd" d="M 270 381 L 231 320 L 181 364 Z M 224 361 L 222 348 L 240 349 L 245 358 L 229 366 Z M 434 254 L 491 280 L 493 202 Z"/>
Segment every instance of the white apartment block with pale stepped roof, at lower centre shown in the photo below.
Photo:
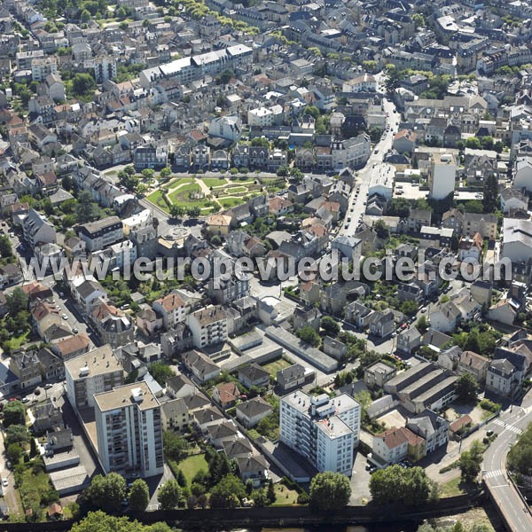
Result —
<path fill-rule="evenodd" d="M 300 390 L 281 399 L 280 440 L 319 472 L 351 475 L 360 434 L 360 404 L 347 394 L 330 398 Z"/>

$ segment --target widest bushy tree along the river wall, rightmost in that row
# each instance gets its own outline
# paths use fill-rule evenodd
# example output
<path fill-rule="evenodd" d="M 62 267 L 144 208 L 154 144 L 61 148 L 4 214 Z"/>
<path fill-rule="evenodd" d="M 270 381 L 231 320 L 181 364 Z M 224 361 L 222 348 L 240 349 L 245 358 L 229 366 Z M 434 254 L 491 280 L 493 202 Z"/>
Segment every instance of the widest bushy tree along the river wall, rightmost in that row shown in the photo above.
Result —
<path fill-rule="evenodd" d="M 372 474 L 370 491 L 376 505 L 423 505 L 434 498 L 437 490 L 421 467 L 390 465 Z"/>

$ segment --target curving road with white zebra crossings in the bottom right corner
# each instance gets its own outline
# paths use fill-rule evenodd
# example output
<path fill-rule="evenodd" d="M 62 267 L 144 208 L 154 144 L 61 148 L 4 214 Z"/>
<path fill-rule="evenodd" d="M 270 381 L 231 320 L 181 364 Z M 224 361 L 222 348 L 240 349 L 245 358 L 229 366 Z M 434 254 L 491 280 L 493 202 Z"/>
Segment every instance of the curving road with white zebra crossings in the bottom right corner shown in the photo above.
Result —
<path fill-rule="evenodd" d="M 506 458 L 513 443 L 532 422 L 532 394 L 523 399 L 521 406 L 512 406 L 486 427 L 497 432 L 484 455 L 482 478 L 491 497 L 512 532 L 530 532 L 532 513 L 527 501 L 515 489 L 506 471 Z"/>

